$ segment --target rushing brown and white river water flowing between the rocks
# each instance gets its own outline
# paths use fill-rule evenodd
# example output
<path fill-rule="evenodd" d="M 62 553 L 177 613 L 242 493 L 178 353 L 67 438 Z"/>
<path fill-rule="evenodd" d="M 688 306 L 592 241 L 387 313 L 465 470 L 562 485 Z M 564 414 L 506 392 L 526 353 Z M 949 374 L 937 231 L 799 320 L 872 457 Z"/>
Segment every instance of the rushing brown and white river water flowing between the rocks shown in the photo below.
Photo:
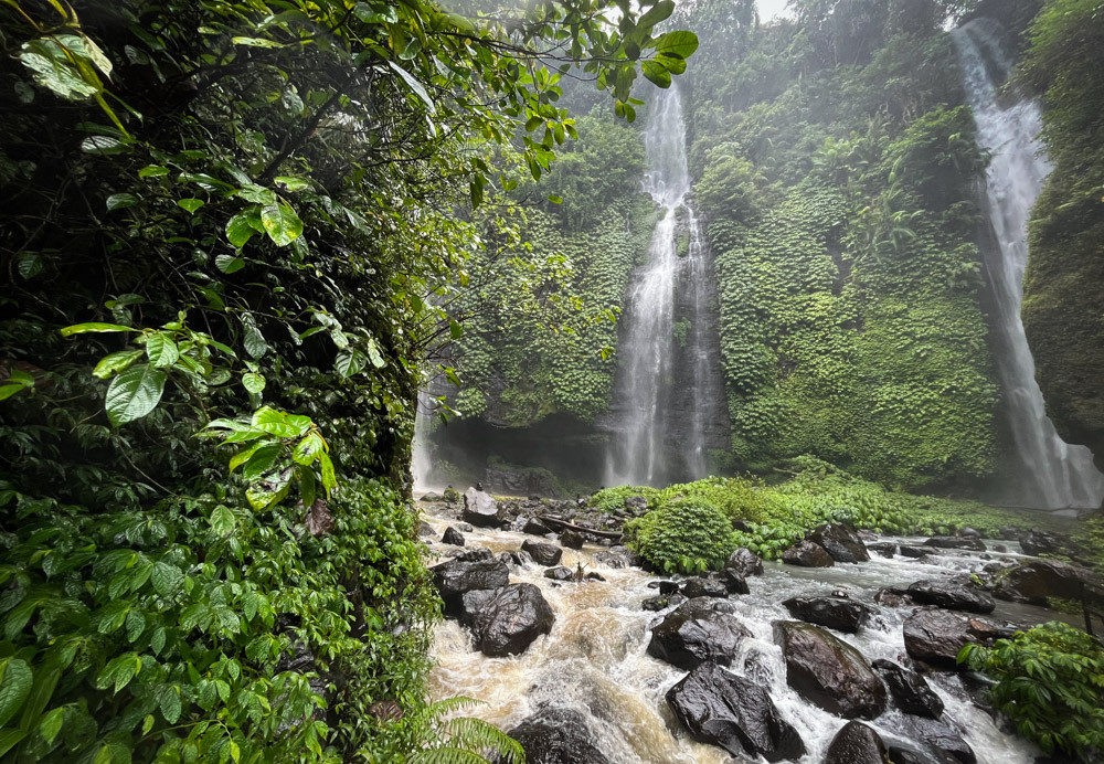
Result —
<path fill-rule="evenodd" d="M 454 522 L 432 517 L 427 521 L 438 533 Z M 496 553 L 517 551 L 527 538 L 533 538 L 484 529 L 465 535 L 468 547 L 486 547 Z M 1015 544 L 1009 548 L 1017 549 Z M 450 548 L 432 544 L 432 549 L 444 555 Z M 656 594 L 647 584 L 657 576 L 637 567 L 602 565 L 593 558 L 602 549 L 564 549 L 561 564 L 572 569 L 583 565 L 588 572 L 601 573 L 604 582 L 556 583 L 544 577 L 543 566 L 512 567 L 511 582 L 539 586 L 556 616 L 552 633 L 538 638 L 523 655 L 488 658 L 473 649 L 468 633 L 458 623 L 442 623 L 433 650 L 437 661 L 432 675 L 434 697 L 463 694 L 484 701 L 475 713 L 506 730 L 544 703 L 572 708 L 588 718 L 594 742 L 611 762 L 733 761 L 719 747 L 690 740 L 668 710 L 664 696 L 686 672 L 646 652 L 649 628 L 661 614 L 645 611 L 640 604 Z M 1017 556 L 1015 551 L 989 554 L 992 559 Z M 846 720 L 807 703 L 786 683 L 782 650 L 772 637 L 773 620 L 792 619 L 781 603 L 798 594 L 828 594 L 845 588 L 853 598 L 872 604 L 873 593 L 882 586 L 960 574 L 987 562 L 980 553 L 947 550 L 927 560 L 889 560 L 872 553 L 870 562 L 829 569 L 766 563 L 764 575 L 747 579 L 751 593 L 731 599 L 736 617 L 754 635 L 743 641 L 742 654 L 731 670 L 769 691 L 782 715 L 805 741 L 807 753 L 800 762 L 819 764 Z M 858 635 L 837 636 L 857 647 L 868 660 L 907 662 L 901 624 L 910 612 L 909 607 L 878 607 L 878 615 Z M 1053 615 L 1040 608 L 998 603 L 992 617 L 1036 623 Z M 975 707 L 957 676 L 932 673 L 928 681 L 946 705 L 944 721 L 964 734 L 978 762 L 1028 764 L 1039 755 L 1032 745 L 1000 731 L 985 711 Z M 895 709 L 870 724 L 887 742 L 909 739 L 902 734 L 909 718 Z"/>

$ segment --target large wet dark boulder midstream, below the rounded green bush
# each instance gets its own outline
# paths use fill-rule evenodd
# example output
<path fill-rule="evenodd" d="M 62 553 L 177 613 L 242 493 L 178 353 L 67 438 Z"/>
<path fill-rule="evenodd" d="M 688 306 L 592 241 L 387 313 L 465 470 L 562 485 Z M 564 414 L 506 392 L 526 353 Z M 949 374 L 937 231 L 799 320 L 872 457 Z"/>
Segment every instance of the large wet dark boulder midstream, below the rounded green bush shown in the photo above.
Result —
<path fill-rule="evenodd" d="M 687 670 L 707 660 L 728 666 L 752 633 L 722 603 L 690 599 L 669 613 L 651 629 L 648 655 Z"/>

